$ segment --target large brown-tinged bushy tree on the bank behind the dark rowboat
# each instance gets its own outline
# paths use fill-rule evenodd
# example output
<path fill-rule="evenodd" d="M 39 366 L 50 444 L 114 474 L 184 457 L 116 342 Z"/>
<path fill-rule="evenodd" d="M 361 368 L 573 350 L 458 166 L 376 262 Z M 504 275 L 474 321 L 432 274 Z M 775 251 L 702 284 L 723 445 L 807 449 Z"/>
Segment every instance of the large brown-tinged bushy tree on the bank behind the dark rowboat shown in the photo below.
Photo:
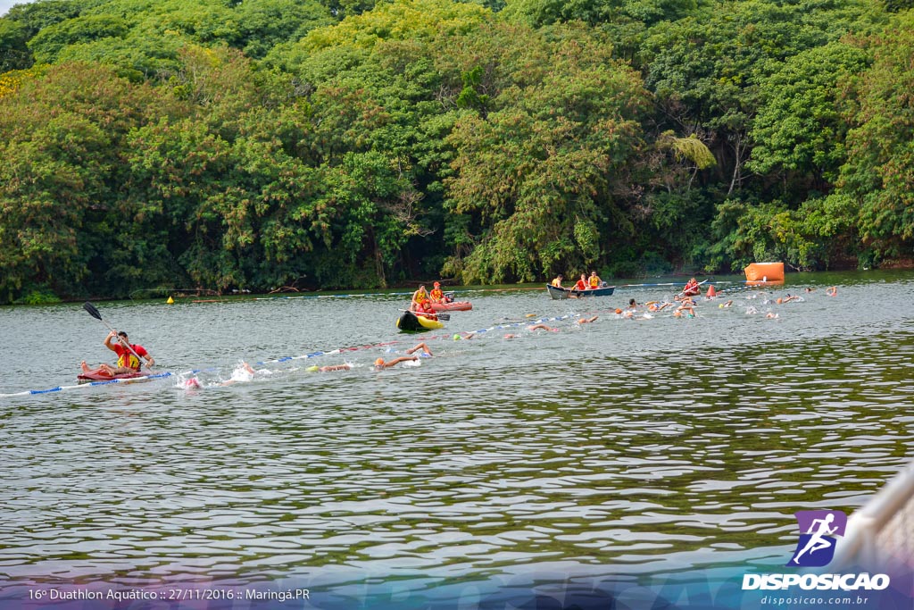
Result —
<path fill-rule="evenodd" d="M 478 227 L 472 253 L 448 267 L 466 282 L 532 281 L 596 262 L 607 237 L 626 231 L 619 193 L 640 145 L 640 80 L 599 37 L 555 27 L 499 38 L 515 41 L 499 57 L 515 82 L 493 91 L 493 112 L 466 113 L 449 138 L 450 205 Z M 528 73 L 534 57 L 548 64 Z"/>

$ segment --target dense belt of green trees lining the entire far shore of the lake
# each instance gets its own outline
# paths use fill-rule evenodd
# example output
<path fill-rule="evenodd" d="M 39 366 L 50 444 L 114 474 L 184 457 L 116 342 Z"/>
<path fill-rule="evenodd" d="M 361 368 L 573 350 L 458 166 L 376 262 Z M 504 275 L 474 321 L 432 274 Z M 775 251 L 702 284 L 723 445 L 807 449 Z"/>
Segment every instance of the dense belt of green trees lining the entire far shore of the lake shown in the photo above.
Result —
<path fill-rule="evenodd" d="M 0 305 L 912 268 L 911 7 L 16 5 Z"/>

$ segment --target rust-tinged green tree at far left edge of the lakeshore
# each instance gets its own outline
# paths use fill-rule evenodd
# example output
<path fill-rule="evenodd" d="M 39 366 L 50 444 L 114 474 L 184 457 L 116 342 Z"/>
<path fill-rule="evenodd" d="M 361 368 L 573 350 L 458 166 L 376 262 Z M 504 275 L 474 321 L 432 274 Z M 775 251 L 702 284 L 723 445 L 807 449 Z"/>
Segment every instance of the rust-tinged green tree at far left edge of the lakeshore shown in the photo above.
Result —
<path fill-rule="evenodd" d="M 149 99 L 87 64 L 55 66 L 0 97 L 0 298 L 31 284 L 80 294 L 93 283 L 98 230 L 112 221 L 94 219 L 117 197 L 122 140 Z"/>

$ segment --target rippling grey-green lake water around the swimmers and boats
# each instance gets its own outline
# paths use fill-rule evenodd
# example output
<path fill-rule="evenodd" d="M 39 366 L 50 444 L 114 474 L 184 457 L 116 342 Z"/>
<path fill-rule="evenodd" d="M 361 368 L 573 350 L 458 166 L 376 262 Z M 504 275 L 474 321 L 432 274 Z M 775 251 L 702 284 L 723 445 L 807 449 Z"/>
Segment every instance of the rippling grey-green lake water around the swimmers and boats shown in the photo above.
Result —
<path fill-rule="evenodd" d="M 914 273 L 727 279 L 692 319 L 612 313 L 668 286 L 467 290 L 424 335 L 397 332 L 403 294 L 96 303 L 175 374 L 27 396 L 111 362 L 108 330 L 80 304 L 0 308 L 0 599 L 782 566 L 794 512 L 850 514 L 914 456 Z M 371 366 L 420 340 L 420 366 Z M 254 379 L 221 385 L 242 359 Z"/>

